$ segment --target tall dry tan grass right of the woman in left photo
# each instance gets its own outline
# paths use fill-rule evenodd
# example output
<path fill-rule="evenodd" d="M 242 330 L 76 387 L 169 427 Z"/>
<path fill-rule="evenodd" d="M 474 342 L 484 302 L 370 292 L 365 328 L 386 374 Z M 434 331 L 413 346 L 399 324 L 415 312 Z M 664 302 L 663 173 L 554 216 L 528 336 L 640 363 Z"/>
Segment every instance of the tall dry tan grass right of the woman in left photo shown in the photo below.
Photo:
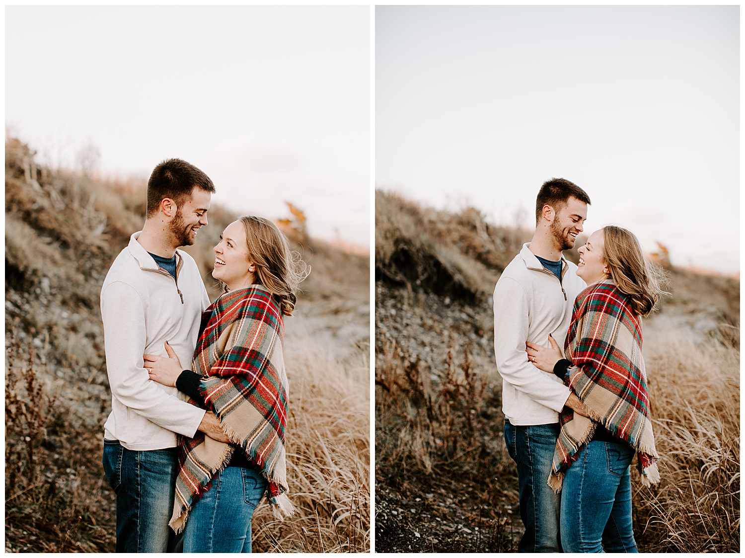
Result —
<path fill-rule="evenodd" d="M 257 510 L 256 551 L 370 550 L 370 367 L 341 363 L 311 339 L 285 343 L 290 378 L 288 483 L 297 514 Z"/>

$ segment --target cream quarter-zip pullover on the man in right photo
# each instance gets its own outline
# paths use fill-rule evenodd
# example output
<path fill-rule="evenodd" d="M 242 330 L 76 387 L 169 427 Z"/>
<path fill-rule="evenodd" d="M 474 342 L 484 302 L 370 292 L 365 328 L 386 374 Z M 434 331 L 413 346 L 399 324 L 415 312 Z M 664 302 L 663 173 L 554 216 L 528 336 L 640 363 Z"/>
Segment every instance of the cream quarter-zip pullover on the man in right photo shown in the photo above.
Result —
<path fill-rule="evenodd" d="M 527 360 L 525 342 L 563 349 L 574 299 L 586 287 L 577 266 L 562 256 L 562 280 L 546 270 L 524 244 L 494 289 L 494 353 L 502 377 L 502 410 L 513 425 L 559 422 L 569 396 L 557 376 Z"/>

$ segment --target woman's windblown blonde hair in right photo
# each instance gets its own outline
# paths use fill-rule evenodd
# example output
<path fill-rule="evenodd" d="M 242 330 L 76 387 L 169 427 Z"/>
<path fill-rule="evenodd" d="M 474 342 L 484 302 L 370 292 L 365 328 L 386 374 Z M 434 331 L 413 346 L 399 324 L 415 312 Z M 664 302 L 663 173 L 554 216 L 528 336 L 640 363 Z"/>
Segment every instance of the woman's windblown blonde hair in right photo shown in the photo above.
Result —
<path fill-rule="evenodd" d="M 641 245 L 630 230 L 621 226 L 603 226 L 603 259 L 610 278 L 618 289 L 631 299 L 633 310 L 640 316 L 653 311 L 667 278 L 656 264 L 644 258 Z"/>

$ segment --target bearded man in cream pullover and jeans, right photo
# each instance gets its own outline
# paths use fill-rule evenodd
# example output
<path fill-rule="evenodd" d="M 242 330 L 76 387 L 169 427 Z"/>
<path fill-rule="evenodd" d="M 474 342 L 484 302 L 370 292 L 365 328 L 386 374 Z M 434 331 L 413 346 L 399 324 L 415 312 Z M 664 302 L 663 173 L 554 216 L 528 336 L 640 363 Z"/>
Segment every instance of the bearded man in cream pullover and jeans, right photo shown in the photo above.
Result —
<path fill-rule="evenodd" d="M 502 377 L 504 441 L 518 471 L 520 516 L 525 534 L 520 552 L 561 552 L 560 495 L 548 486 L 559 435 L 559 412 L 581 414 L 577 396 L 553 374 L 528 361 L 526 341 L 560 347 L 572 306 L 585 283 L 562 250 L 574 247 L 590 198 L 564 179 L 548 180 L 536 199 L 536 232 L 504 269 L 494 290 L 494 352 Z"/>

